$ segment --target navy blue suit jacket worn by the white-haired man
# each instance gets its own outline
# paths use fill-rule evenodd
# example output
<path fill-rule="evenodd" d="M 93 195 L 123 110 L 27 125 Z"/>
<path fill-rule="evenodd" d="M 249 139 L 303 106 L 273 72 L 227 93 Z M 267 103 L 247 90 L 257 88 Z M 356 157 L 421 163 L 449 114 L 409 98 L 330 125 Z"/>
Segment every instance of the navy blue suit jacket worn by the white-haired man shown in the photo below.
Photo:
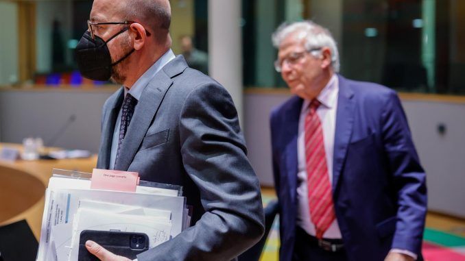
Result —
<path fill-rule="evenodd" d="M 396 92 L 338 75 L 333 199 L 349 260 L 382 261 L 390 249 L 422 259 L 425 171 Z M 280 260 L 291 260 L 297 215 L 297 136 L 302 99 L 271 114 L 274 182 L 280 206 Z"/>

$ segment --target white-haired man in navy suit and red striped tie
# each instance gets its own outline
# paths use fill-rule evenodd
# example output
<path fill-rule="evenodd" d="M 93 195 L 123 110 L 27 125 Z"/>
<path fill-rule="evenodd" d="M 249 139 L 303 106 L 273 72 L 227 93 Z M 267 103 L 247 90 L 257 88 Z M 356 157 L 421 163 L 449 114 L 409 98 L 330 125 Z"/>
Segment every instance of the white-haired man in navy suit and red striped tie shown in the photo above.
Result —
<path fill-rule="evenodd" d="M 425 171 L 396 92 L 337 74 L 311 21 L 273 34 L 291 93 L 271 114 L 281 261 L 422 260 Z"/>

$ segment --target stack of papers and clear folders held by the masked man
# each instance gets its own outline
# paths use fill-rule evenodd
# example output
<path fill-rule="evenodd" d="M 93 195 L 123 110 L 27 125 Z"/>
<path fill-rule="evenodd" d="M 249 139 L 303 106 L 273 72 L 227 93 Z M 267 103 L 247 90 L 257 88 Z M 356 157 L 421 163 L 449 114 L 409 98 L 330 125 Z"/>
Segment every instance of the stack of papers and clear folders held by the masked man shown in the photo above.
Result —
<path fill-rule="evenodd" d="M 189 227 L 179 186 L 140 182 L 135 192 L 95 190 L 89 173 L 53 173 L 45 195 L 38 261 L 78 261 L 84 230 L 143 233 L 150 249 Z"/>

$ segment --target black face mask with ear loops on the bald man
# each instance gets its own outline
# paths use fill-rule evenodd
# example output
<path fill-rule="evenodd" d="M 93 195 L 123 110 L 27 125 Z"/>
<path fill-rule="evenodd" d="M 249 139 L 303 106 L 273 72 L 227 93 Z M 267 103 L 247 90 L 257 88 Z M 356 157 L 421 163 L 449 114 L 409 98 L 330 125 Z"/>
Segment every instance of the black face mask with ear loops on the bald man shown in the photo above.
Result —
<path fill-rule="evenodd" d="M 122 29 L 106 42 L 99 36 L 95 36 L 95 40 L 92 39 L 91 33 L 88 31 L 84 33 L 75 49 L 76 62 L 78 62 L 78 68 L 82 76 L 96 81 L 108 81 L 110 79 L 112 66 L 128 58 L 135 50 L 132 49 L 123 58 L 112 63 L 110 50 L 108 50 L 106 44 L 128 29 L 129 27 Z"/>

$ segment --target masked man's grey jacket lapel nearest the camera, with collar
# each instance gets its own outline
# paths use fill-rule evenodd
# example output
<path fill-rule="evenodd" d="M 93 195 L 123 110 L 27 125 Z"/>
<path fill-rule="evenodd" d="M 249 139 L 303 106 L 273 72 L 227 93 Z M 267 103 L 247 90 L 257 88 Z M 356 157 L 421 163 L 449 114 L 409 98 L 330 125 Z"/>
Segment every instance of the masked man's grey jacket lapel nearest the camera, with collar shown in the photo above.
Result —
<path fill-rule="evenodd" d="M 163 97 L 171 87 L 173 80 L 171 77 L 182 73 L 187 68 L 187 64 L 178 56 L 169 62 L 162 70 L 156 73 L 154 79 L 145 86 L 141 98 L 134 110 L 128 132 L 121 145 L 121 153 L 118 156 L 115 169 L 127 171 L 132 159 L 136 155 L 141 142 L 152 123 Z"/>

